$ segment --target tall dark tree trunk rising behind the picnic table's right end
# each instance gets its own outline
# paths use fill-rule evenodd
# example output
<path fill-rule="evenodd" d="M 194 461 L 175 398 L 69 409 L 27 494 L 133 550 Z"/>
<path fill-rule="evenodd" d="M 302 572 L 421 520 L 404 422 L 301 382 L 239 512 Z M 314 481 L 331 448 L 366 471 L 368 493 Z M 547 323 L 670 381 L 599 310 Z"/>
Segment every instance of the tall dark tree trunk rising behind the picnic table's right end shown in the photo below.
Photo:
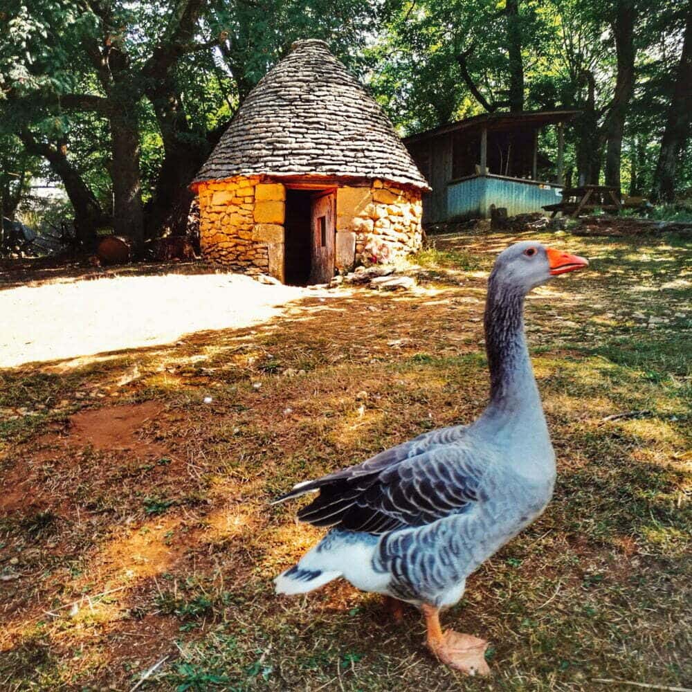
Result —
<path fill-rule="evenodd" d="M 620 189 L 622 136 L 627 109 L 635 86 L 635 7 L 633 0 L 620 0 L 613 22 L 617 78 L 612 107 L 603 123 L 605 135 L 605 184 Z"/>

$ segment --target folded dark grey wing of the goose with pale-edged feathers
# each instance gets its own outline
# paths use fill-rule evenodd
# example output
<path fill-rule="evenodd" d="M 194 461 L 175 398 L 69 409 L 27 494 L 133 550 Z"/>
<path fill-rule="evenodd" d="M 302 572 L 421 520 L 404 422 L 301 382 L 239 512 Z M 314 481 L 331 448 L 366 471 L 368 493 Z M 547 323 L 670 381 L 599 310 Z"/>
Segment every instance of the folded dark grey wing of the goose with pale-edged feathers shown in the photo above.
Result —
<path fill-rule="evenodd" d="M 466 428 L 443 428 L 385 450 L 363 464 L 298 484 L 281 502 L 309 491 L 320 495 L 298 512 L 315 526 L 383 534 L 458 514 L 482 500 L 486 464 Z"/>

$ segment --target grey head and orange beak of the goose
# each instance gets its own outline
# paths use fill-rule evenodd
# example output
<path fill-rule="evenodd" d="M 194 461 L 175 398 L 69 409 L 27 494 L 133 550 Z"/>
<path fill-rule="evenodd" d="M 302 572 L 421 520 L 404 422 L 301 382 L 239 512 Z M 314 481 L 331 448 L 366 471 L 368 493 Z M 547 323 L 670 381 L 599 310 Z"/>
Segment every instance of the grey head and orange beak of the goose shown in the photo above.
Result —
<path fill-rule="evenodd" d="M 515 243 L 498 255 L 491 273 L 495 285 L 526 294 L 568 271 L 588 266 L 588 260 L 532 240 Z"/>

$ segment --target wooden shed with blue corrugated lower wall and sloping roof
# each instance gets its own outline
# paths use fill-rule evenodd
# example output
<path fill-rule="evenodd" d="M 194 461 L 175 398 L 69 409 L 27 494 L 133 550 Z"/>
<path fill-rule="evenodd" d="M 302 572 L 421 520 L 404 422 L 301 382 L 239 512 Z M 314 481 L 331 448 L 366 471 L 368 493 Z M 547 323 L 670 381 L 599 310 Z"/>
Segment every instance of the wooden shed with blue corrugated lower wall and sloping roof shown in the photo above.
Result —
<path fill-rule="evenodd" d="M 492 206 L 511 216 L 543 212 L 561 201 L 563 123 L 577 113 L 484 113 L 407 137 L 403 141 L 432 187 L 424 223 L 488 218 Z M 538 133 L 549 125 L 557 128 L 556 163 L 538 150 Z"/>

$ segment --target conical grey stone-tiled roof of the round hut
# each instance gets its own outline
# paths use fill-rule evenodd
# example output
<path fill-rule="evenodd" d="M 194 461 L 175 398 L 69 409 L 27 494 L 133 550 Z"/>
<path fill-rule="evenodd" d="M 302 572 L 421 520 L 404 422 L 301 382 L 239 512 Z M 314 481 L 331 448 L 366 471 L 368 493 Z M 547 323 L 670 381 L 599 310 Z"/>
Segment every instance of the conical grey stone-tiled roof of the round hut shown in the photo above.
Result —
<path fill-rule="evenodd" d="M 295 42 L 248 94 L 194 183 L 257 174 L 429 189 L 384 111 L 316 39 Z"/>

